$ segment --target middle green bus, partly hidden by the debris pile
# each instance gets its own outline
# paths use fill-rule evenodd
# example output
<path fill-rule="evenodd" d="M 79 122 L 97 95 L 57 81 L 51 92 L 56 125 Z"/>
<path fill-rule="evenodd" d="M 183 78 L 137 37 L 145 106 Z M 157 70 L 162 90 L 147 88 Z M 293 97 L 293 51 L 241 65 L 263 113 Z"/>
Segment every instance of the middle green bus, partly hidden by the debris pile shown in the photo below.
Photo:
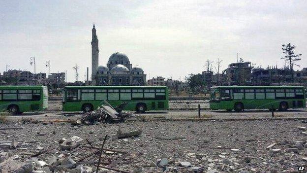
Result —
<path fill-rule="evenodd" d="M 126 102 L 124 110 L 168 109 L 168 88 L 164 86 L 66 86 L 63 111 L 92 111 L 107 101 L 116 107 Z"/>

